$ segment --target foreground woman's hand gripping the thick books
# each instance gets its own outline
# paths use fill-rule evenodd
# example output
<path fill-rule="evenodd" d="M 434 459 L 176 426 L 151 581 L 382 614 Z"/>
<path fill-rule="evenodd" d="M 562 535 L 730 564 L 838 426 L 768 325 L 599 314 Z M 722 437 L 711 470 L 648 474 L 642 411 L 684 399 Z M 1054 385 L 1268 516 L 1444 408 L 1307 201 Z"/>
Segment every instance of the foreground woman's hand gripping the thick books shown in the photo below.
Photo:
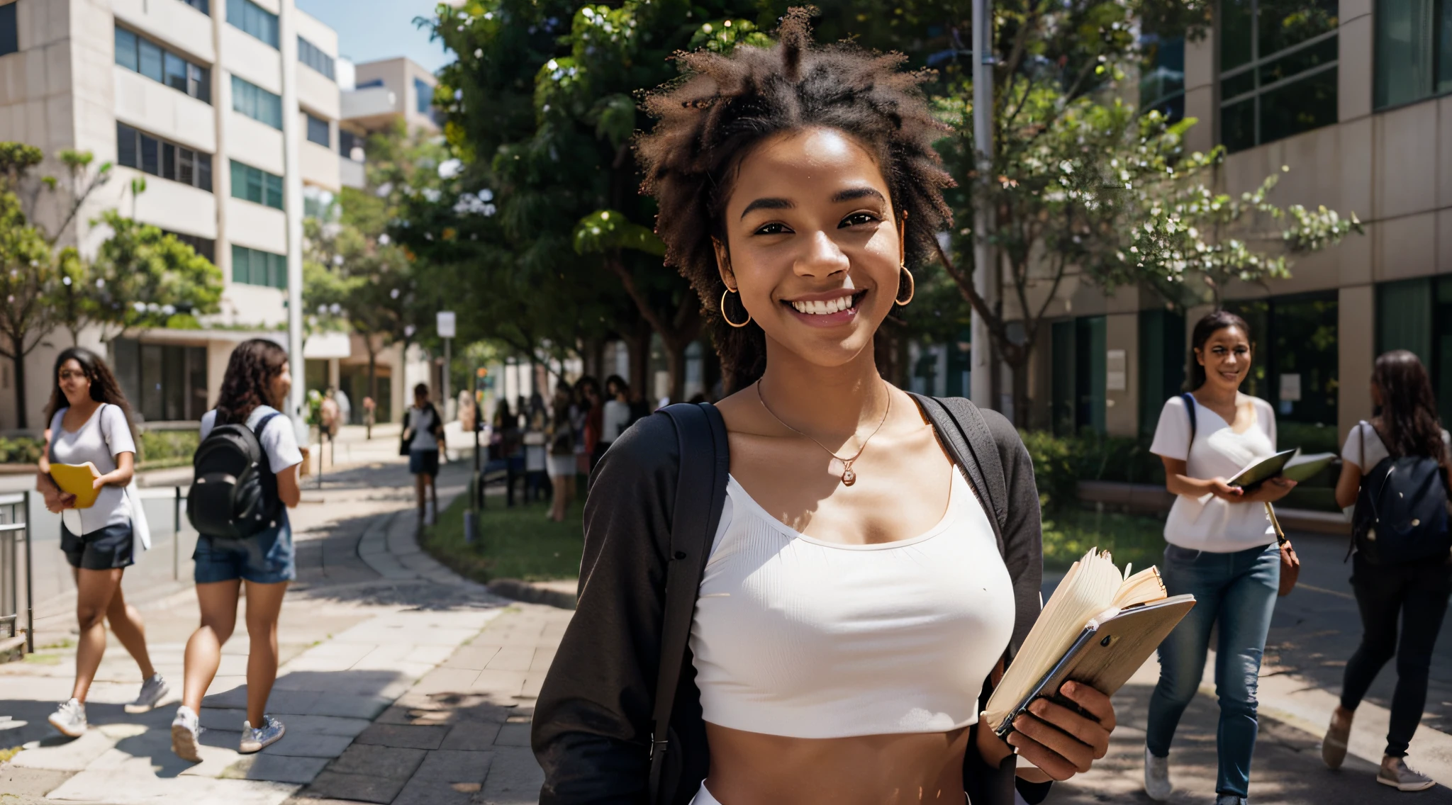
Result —
<path fill-rule="evenodd" d="M 1066 682 L 1059 692 L 1083 708 L 1086 715 L 1038 699 L 1013 721 L 1008 743 L 1050 779 L 1067 780 L 1088 772 L 1109 751 L 1109 732 L 1115 727 L 1114 703 L 1109 696 L 1079 682 Z"/>

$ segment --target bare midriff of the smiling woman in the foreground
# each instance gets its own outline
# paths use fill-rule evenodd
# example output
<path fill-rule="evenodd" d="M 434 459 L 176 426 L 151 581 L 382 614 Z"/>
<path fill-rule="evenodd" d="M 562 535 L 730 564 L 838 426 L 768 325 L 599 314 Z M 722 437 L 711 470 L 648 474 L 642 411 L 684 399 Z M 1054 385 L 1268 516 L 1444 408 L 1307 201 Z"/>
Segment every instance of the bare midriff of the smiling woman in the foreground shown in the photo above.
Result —
<path fill-rule="evenodd" d="M 963 805 L 970 730 L 786 738 L 706 724 L 722 805 Z M 974 750 L 976 751 L 976 750 Z"/>

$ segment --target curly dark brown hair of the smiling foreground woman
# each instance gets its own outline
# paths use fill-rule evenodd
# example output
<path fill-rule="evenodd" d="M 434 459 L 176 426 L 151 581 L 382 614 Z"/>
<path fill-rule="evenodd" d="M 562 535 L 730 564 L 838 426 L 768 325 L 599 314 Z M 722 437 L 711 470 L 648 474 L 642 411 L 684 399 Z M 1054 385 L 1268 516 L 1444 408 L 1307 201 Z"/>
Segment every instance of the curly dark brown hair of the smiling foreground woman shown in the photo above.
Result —
<path fill-rule="evenodd" d="M 954 181 L 932 148 L 950 128 L 932 116 L 921 88 L 932 71 L 902 71 L 908 57 L 851 42 L 815 45 L 815 13 L 812 7 L 787 12 L 771 48 L 677 54 L 684 77 L 645 100 L 656 125 L 636 141 L 645 168 L 640 189 L 659 203 L 655 231 L 665 241 L 665 263 L 701 297 L 727 390 L 755 381 L 767 366 L 762 329 L 755 322 L 736 329 L 722 321 L 719 300 L 726 286 L 711 245 L 713 238 L 726 241 L 732 180 L 755 145 L 780 132 L 822 126 L 867 146 L 877 155 L 893 209 L 908 213 L 912 265 L 935 254 L 935 234 L 953 220 L 942 191 Z"/>

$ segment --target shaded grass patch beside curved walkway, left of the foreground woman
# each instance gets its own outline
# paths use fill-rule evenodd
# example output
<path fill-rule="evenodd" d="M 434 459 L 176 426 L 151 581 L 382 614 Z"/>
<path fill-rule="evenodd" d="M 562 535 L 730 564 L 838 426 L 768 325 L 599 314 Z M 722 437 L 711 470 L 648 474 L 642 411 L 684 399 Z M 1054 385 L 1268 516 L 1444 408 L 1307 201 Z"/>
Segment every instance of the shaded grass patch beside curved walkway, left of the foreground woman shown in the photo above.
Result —
<path fill-rule="evenodd" d="M 479 538 L 473 544 L 463 540 L 465 509 L 468 496 L 454 498 L 440 513 L 437 525 L 425 528 L 420 540 L 428 556 L 454 573 L 476 582 L 549 582 L 579 576 L 585 532 L 578 500 L 569 508 L 565 522 L 553 522 L 544 516 L 549 503 L 505 508 L 502 500 L 491 499 L 488 508 L 479 512 Z"/>

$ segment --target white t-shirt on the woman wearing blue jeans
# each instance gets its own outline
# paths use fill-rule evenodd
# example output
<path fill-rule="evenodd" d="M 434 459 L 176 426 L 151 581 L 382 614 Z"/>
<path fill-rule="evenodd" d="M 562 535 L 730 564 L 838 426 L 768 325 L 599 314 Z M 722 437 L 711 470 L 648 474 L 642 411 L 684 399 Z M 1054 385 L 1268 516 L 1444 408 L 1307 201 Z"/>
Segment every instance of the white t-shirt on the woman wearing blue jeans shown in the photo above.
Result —
<path fill-rule="evenodd" d="M 1194 397 L 1191 397 L 1194 399 Z M 1260 397 L 1250 400 L 1256 421 L 1243 434 L 1230 428 L 1218 413 L 1195 403 L 1195 444 L 1189 439 L 1189 413 L 1182 397 L 1170 397 L 1160 410 L 1150 453 L 1185 461 L 1192 479 L 1233 477 L 1253 461 L 1275 454 L 1275 410 Z M 1260 503 L 1231 503 L 1214 495 L 1179 495 L 1165 522 L 1165 541 L 1172 545 L 1212 554 L 1228 554 L 1275 540 L 1275 529 Z"/>

